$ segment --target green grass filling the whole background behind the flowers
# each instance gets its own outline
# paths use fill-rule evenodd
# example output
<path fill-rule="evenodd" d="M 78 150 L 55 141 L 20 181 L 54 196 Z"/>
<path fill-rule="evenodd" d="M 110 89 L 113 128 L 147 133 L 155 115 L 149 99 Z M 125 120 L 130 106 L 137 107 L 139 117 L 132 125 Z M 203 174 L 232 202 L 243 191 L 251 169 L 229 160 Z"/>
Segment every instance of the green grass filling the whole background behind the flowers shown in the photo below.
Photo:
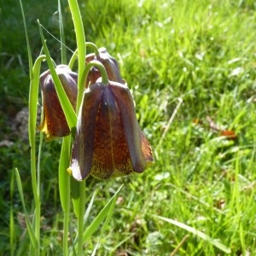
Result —
<path fill-rule="evenodd" d="M 18 4 L 14 8 L 20 15 Z M 86 39 L 99 47 L 105 46 L 118 59 L 155 157 L 154 166 L 141 175 L 104 182 L 90 177 L 86 181 L 86 204 L 96 191 L 87 225 L 120 184 L 125 183 L 125 186 L 119 193 L 113 218 L 104 227 L 102 236 L 98 230 L 93 239 L 87 241 L 84 255 L 93 252 L 100 237 L 96 255 L 170 255 L 186 235 L 189 238 L 177 255 L 225 255 L 211 242 L 155 215 L 204 232 L 229 247 L 231 255 L 256 252 L 255 10 L 253 1 L 231 0 L 98 0 L 88 1 L 85 7 L 81 5 Z M 50 20 L 54 11 L 49 12 L 48 17 L 40 12 L 33 13 L 32 17 L 34 21 L 37 18 Z M 30 17 L 32 7 L 25 6 L 25 12 Z M 74 49 L 72 21 L 68 19 L 67 9 L 66 12 L 67 46 Z M 42 24 L 50 32 L 56 31 L 46 21 Z M 30 24 L 29 32 L 30 27 L 32 34 L 29 36 L 33 37 L 35 28 Z M 49 37 L 47 41 L 49 45 L 56 44 L 54 38 Z M 36 49 L 33 40 L 31 43 Z M 40 44 L 37 47 L 41 47 Z M 55 50 L 52 49 L 53 55 Z M 9 53 L 12 52 L 19 54 L 17 45 L 9 49 Z M 26 63 L 25 54 L 22 56 Z M 3 61 L 1 65 L 3 67 Z M 6 88 L 15 97 L 24 98 L 26 94 L 20 96 L 19 90 L 12 90 L 15 88 L 12 81 L 19 78 L 17 68 L 19 65 L 10 70 L 14 75 L 7 80 Z M 161 140 L 178 98 L 182 98 L 183 103 Z M 209 129 L 207 116 L 226 130 L 235 131 L 236 141 L 220 137 Z M 203 125 L 196 125 L 195 119 L 200 119 Z M 0 150 L 9 173 L 3 176 L 1 186 L 5 191 L 8 189 L 10 173 L 18 166 L 25 186 L 27 209 L 30 209 L 29 164 L 26 166 L 22 152 L 20 154 L 16 148 Z M 62 212 L 57 190 L 59 150 L 58 142 L 44 143 L 42 255 L 61 255 Z M 9 158 L 13 159 L 13 165 Z M 15 235 L 11 236 L 15 236 L 15 255 L 19 255 L 19 251 L 23 255 L 29 241 L 17 221 L 22 208 L 17 189 L 13 192 Z M 1 192 L 1 197 L 9 198 L 6 193 Z M 9 253 L 9 235 L 6 234 L 9 234 L 10 205 L 9 201 L 1 205 L 4 228 L 0 233 L 0 254 Z M 74 215 L 71 224 L 76 231 Z"/>

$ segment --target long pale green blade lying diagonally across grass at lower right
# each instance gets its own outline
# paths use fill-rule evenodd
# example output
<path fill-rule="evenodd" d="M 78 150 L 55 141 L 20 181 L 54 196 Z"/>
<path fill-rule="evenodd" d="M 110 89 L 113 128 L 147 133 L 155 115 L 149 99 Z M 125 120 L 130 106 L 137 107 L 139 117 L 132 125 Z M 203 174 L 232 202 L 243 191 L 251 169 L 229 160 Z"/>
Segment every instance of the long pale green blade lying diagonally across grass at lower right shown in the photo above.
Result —
<path fill-rule="evenodd" d="M 200 230 L 195 230 L 195 228 L 190 227 L 186 224 L 183 224 L 181 222 L 178 222 L 177 220 L 174 220 L 172 218 L 165 218 L 165 217 L 161 217 L 158 215 L 153 215 L 154 218 L 159 218 L 161 220 L 164 220 L 170 224 L 176 225 L 177 227 L 183 229 L 183 230 L 187 230 L 188 232 L 190 232 L 191 234 L 200 237 L 201 239 L 210 242 L 214 247 L 218 247 L 218 249 L 222 250 L 224 253 L 231 253 L 230 248 L 224 246 L 223 243 L 219 242 L 216 239 L 212 239 L 212 237 L 207 236 L 207 234 L 201 232 Z"/>

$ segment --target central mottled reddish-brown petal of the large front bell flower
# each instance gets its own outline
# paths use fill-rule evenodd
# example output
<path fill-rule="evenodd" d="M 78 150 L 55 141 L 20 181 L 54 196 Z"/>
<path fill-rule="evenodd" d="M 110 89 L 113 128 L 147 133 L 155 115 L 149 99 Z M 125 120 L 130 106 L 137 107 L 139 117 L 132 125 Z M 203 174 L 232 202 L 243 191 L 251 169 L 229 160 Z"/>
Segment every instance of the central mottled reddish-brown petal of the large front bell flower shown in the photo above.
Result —
<path fill-rule="evenodd" d="M 97 113 L 95 151 L 91 175 L 101 179 L 133 172 L 119 108 L 106 87 Z"/>

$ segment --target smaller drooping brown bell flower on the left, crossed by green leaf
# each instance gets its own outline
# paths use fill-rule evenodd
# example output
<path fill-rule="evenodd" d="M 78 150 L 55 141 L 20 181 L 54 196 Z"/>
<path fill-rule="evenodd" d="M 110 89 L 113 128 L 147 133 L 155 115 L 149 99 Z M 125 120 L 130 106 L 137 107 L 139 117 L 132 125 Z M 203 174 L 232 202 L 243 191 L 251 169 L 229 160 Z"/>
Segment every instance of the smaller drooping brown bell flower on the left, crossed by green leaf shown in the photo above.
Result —
<path fill-rule="evenodd" d="M 78 75 L 71 71 L 66 65 L 55 67 L 55 71 L 61 80 L 69 101 L 76 108 L 78 94 Z M 46 134 L 46 139 L 65 137 L 70 133 L 66 116 L 61 108 L 61 103 L 55 90 L 55 84 L 49 70 L 40 76 L 40 86 L 43 102 L 43 121 L 38 125 L 38 130 Z"/>

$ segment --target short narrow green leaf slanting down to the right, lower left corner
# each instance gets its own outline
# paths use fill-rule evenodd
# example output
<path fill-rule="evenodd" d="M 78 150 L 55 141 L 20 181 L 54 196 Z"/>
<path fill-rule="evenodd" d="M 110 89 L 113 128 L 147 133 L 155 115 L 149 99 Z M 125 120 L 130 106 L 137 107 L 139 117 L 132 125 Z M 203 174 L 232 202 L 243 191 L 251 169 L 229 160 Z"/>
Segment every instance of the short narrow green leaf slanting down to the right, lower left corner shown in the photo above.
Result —
<path fill-rule="evenodd" d="M 30 219 L 28 217 L 28 214 L 26 212 L 26 205 L 25 205 L 25 201 L 24 201 L 24 194 L 23 194 L 22 184 L 21 184 L 21 180 L 20 180 L 20 173 L 19 173 L 17 168 L 15 168 L 15 174 L 16 174 L 16 182 L 17 182 L 17 186 L 18 186 L 18 191 L 19 191 L 19 194 L 20 194 L 20 201 L 21 201 L 21 204 L 22 204 L 22 207 L 23 207 L 23 211 L 25 213 L 26 228 L 28 230 L 28 233 L 29 233 L 30 239 L 32 241 L 33 247 L 37 248 L 38 247 L 38 241 L 37 241 L 37 238 L 35 236 L 34 230 L 32 229 L 31 221 L 30 221 Z"/>

